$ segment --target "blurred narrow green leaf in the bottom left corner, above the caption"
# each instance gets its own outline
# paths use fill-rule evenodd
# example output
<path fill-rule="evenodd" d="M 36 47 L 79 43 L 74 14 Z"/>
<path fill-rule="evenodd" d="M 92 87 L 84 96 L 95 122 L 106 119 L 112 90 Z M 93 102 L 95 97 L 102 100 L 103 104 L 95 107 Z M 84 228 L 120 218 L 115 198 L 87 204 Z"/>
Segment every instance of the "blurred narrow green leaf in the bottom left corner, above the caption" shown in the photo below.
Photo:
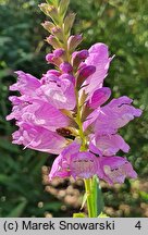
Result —
<path fill-rule="evenodd" d="M 23 213 L 25 207 L 27 205 L 26 199 L 23 199 L 22 202 L 18 203 L 9 214 L 8 218 L 18 218 Z"/>

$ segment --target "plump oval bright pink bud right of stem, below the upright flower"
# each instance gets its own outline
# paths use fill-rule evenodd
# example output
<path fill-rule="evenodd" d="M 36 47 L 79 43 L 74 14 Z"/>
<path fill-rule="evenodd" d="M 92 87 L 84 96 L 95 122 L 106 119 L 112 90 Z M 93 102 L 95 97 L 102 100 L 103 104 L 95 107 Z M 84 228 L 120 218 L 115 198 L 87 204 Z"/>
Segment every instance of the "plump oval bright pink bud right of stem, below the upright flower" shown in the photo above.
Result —
<path fill-rule="evenodd" d="M 91 109 L 97 109 L 102 106 L 111 96 L 111 90 L 108 87 L 102 87 L 97 89 L 91 98 L 88 100 L 88 107 Z"/>

